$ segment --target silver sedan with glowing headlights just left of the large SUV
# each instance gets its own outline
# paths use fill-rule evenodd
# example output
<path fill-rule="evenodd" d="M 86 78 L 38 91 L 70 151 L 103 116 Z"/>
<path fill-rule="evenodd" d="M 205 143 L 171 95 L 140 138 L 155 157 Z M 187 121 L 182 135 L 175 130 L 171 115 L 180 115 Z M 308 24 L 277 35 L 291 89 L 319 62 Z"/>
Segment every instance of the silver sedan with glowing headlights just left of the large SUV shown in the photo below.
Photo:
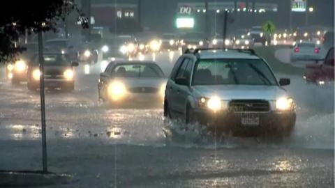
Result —
<path fill-rule="evenodd" d="M 112 105 L 162 104 L 166 78 L 151 61 L 111 62 L 98 82 L 100 100 Z"/>

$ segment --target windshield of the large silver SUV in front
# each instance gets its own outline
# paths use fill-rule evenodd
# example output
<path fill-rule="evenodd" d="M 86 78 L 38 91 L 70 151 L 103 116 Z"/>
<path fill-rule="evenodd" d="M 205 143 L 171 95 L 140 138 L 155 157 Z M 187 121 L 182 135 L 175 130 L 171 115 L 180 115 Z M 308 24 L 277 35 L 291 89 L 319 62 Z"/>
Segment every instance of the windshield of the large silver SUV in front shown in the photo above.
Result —
<path fill-rule="evenodd" d="M 267 85 L 276 78 L 260 59 L 203 59 L 195 65 L 193 85 Z"/>

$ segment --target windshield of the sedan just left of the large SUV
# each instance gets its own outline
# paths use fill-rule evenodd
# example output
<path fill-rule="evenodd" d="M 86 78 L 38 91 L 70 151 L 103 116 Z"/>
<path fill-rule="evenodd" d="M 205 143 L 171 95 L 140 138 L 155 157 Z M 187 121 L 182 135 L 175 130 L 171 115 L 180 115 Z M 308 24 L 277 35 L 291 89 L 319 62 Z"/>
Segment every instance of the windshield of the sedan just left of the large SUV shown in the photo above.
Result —
<path fill-rule="evenodd" d="M 114 77 L 164 77 L 161 68 L 154 64 L 117 65 L 112 71 L 112 75 Z"/>

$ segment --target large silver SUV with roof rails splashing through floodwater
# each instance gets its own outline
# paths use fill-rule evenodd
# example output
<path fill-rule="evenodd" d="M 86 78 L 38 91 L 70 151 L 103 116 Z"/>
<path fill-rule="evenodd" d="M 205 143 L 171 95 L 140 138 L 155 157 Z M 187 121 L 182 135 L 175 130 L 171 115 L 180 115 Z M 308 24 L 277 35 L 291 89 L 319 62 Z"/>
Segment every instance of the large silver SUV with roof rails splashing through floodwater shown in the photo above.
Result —
<path fill-rule="evenodd" d="M 251 49 L 195 49 L 172 69 L 164 116 L 235 136 L 290 136 L 296 114 L 288 84 Z"/>

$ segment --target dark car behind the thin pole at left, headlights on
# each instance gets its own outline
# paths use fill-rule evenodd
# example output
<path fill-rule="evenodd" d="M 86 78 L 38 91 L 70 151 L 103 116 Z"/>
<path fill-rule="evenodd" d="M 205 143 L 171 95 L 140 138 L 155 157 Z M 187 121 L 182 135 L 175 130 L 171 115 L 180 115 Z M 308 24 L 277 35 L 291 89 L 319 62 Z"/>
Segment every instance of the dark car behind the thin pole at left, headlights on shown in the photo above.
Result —
<path fill-rule="evenodd" d="M 45 88 L 61 88 L 64 91 L 73 91 L 75 88 L 75 73 L 73 67 L 77 62 L 71 62 L 66 54 L 45 53 L 44 80 Z M 27 88 L 36 91 L 40 88 L 40 70 L 38 54 L 29 62 L 27 71 Z"/>

